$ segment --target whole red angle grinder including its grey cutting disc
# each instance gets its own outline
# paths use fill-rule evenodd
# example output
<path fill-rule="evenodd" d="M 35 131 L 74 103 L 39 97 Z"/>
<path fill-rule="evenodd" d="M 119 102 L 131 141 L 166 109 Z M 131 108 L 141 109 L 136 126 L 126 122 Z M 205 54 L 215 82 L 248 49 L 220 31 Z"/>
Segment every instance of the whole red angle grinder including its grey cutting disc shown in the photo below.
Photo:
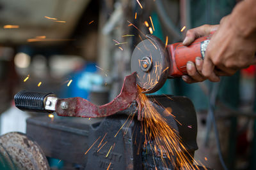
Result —
<path fill-rule="evenodd" d="M 156 92 L 167 78 L 188 74 L 187 62 L 195 62 L 196 57 L 204 59 L 211 36 L 212 32 L 184 46 L 182 43 L 164 45 L 156 36 L 147 35 L 136 46 L 131 58 L 131 71 L 137 73 L 136 83 L 143 89 L 143 93 Z"/>

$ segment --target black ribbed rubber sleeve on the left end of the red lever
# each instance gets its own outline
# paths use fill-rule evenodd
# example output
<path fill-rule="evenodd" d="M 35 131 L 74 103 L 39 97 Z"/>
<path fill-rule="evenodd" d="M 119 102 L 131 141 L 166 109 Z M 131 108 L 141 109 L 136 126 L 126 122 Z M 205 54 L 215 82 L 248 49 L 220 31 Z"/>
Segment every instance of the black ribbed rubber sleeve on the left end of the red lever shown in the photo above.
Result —
<path fill-rule="evenodd" d="M 15 106 L 23 111 L 38 111 L 51 113 L 51 110 L 45 110 L 47 97 L 56 97 L 53 93 L 29 92 L 23 90 L 14 96 Z"/>

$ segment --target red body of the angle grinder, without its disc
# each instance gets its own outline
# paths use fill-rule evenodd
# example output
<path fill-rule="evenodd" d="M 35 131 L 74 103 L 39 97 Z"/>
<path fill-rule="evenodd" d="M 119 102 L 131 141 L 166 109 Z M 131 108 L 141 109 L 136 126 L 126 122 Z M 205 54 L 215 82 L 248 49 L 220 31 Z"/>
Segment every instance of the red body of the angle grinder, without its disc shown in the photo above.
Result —
<path fill-rule="evenodd" d="M 195 39 L 189 46 L 184 46 L 182 43 L 174 43 L 167 46 L 167 50 L 170 56 L 170 69 L 169 75 L 171 78 L 180 77 L 184 74 L 188 74 L 186 64 L 188 61 L 195 62 L 196 57 L 205 57 L 205 51 L 207 45 L 210 42 L 212 31 L 209 36 L 203 36 Z"/>

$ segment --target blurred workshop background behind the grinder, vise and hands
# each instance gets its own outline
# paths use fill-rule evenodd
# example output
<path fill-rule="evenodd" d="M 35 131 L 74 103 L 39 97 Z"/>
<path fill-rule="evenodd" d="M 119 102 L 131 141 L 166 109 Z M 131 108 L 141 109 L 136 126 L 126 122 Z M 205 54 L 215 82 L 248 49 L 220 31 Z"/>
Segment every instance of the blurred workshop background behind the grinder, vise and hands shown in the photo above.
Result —
<path fill-rule="evenodd" d="M 168 43 L 182 41 L 188 29 L 218 24 L 238 3 L 236 0 L 139 2 L 0 1 L 1 135 L 14 131 L 26 133 L 26 118 L 42 114 L 15 108 L 13 96 L 20 90 L 54 92 L 58 97 L 83 97 L 95 104 L 108 103 L 119 94 L 124 77 L 131 73 L 131 53 L 141 41 L 140 31 L 163 41 L 168 36 Z M 221 78 L 220 83 L 205 81 L 189 85 L 181 79 L 168 80 L 156 94 L 188 96 L 195 104 L 199 148 L 196 160 L 200 159 L 207 167 L 222 168 L 208 114 L 214 111 L 221 152 L 228 168 L 256 169 L 255 82 L 255 66 L 251 66 L 232 77 Z M 53 114 L 51 118 L 60 117 Z M 52 169 L 79 168 L 71 163 L 49 159 Z"/>

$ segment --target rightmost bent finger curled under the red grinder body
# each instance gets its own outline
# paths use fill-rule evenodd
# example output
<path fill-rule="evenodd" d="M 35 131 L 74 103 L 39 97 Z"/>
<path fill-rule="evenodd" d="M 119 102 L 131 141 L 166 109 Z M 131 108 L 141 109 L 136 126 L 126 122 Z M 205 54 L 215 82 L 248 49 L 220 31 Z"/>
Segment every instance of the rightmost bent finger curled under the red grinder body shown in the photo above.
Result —
<path fill-rule="evenodd" d="M 214 64 L 208 57 L 205 57 L 202 74 L 205 76 L 205 78 L 208 78 L 210 81 L 220 81 L 220 77 L 216 76 L 216 74 L 214 73 Z"/>

